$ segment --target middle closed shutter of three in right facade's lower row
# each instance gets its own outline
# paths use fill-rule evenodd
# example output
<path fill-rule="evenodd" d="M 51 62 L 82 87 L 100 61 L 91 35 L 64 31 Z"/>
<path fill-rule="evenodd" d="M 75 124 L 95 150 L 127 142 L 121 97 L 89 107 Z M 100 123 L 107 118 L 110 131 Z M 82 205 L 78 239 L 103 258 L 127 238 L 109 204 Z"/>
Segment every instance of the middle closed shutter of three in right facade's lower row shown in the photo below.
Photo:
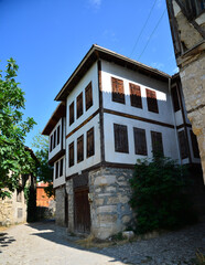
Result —
<path fill-rule="evenodd" d="M 136 155 L 147 156 L 147 140 L 145 130 L 140 128 L 133 128 L 134 148 Z"/>

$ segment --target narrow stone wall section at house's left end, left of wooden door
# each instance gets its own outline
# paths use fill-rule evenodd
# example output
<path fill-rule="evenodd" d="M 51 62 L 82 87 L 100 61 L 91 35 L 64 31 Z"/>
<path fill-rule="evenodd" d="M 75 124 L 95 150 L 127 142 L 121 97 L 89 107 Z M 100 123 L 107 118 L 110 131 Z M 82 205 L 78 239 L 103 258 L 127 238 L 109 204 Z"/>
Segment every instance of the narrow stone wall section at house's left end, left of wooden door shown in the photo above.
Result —
<path fill-rule="evenodd" d="M 65 225 L 65 188 L 61 187 L 55 190 L 55 222 L 58 225 Z"/>

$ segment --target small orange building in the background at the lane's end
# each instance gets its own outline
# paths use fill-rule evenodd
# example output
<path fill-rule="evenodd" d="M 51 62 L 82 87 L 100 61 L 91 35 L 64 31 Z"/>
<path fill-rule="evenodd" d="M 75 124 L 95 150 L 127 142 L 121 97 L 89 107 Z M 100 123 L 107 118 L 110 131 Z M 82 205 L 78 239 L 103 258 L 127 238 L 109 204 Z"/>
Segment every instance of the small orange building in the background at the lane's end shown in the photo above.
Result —
<path fill-rule="evenodd" d="M 48 187 L 48 183 L 37 182 L 36 183 L 36 206 L 48 208 L 50 202 L 54 200 L 54 197 L 48 198 L 45 193 L 45 188 Z"/>

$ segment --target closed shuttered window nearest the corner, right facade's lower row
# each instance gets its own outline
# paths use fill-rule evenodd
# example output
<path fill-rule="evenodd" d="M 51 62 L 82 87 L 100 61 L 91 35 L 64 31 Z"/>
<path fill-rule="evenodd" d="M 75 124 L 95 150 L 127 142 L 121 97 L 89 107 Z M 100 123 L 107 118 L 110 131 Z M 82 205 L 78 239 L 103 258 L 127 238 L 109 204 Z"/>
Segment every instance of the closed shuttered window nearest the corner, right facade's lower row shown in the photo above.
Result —
<path fill-rule="evenodd" d="M 129 152 L 128 128 L 126 125 L 114 124 L 115 151 Z"/>

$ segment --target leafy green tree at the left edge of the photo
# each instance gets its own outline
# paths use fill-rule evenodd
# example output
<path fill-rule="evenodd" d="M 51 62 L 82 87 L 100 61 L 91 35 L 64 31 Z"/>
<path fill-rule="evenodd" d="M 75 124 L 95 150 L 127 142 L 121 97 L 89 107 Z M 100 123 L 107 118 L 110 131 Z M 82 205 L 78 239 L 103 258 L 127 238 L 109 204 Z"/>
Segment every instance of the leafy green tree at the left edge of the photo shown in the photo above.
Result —
<path fill-rule="evenodd" d="M 19 66 L 8 60 L 4 74 L 0 71 L 0 198 L 10 197 L 19 186 L 22 173 L 35 171 L 35 161 L 24 141 L 35 121 L 23 121 L 24 92 L 15 82 Z"/>

